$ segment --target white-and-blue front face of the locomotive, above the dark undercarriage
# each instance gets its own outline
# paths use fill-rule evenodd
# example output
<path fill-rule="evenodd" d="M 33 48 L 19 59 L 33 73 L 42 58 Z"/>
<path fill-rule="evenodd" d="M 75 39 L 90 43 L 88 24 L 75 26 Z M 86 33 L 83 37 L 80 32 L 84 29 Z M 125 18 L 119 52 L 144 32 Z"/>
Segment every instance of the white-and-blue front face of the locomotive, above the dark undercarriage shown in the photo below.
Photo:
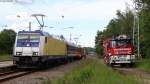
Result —
<path fill-rule="evenodd" d="M 39 55 L 39 35 L 19 34 L 16 40 L 15 55 L 32 56 Z"/>

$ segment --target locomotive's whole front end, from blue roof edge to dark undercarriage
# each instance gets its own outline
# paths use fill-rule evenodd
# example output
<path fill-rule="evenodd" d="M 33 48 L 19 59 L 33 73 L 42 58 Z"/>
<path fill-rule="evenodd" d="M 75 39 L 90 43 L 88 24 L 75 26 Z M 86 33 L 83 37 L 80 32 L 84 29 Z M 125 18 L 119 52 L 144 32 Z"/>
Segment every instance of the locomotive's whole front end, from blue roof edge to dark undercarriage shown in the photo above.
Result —
<path fill-rule="evenodd" d="M 44 36 L 40 31 L 20 31 L 16 36 L 13 61 L 17 65 L 38 64 Z"/>

